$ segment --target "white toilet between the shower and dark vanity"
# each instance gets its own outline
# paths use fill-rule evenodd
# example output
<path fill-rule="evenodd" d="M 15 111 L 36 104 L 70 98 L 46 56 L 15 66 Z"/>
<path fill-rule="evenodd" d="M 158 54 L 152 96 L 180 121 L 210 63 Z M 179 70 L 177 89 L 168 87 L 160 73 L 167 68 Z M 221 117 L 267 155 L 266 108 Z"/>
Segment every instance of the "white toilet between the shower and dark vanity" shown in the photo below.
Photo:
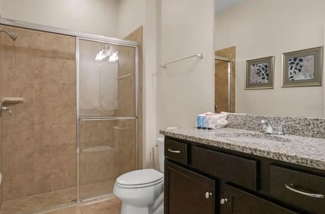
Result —
<path fill-rule="evenodd" d="M 121 214 L 164 213 L 164 137 L 157 138 L 159 169 L 140 169 L 119 176 L 113 193 L 122 201 Z"/>

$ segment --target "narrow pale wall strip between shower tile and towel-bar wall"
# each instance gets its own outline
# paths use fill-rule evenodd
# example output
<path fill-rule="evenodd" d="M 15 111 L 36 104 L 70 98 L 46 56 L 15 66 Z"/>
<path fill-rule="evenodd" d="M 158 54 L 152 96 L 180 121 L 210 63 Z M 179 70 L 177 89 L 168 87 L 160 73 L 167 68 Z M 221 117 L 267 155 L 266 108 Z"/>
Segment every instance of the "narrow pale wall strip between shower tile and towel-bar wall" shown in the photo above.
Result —
<path fill-rule="evenodd" d="M 157 45 L 160 41 L 160 0 L 146 0 L 143 42 L 143 115 L 144 115 L 144 162 L 147 168 L 155 167 L 152 148 L 156 148 L 156 72 L 159 57 Z M 157 150 L 156 150 L 157 151 Z M 155 156 L 157 157 L 157 155 Z"/>

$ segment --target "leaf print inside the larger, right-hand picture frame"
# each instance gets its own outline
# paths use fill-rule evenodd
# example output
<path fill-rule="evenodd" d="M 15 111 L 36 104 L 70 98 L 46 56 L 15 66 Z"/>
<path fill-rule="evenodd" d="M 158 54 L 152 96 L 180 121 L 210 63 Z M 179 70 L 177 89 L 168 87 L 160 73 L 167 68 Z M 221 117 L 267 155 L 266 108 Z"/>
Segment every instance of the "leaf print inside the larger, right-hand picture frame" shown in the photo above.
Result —
<path fill-rule="evenodd" d="M 288 67 L 289 81 L 314 79 L 315 55 L 289 58 Z"/>

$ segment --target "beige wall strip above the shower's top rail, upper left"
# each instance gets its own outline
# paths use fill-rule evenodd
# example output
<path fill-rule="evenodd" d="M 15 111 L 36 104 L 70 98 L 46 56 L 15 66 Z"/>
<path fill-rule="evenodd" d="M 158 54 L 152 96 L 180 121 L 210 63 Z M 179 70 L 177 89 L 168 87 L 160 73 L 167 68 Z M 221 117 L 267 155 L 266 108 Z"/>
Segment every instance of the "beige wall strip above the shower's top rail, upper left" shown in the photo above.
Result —
<path fill-rule="evenodd" d="M 0 0 L 4 18 L 117 37 L 117 0 Z"/>

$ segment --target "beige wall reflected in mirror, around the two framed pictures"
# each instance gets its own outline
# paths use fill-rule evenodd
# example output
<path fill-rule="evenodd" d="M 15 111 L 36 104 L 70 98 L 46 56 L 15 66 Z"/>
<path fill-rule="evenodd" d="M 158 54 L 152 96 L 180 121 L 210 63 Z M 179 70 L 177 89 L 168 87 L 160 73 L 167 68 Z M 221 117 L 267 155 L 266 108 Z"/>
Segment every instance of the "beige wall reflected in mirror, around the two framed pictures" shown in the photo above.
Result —
<path fill-rule="evenodd" d="M 215 50 L 236 46 L 236 113 L 324 117 L 324 86 L 281 88 L 282 53 L 324 45 L 324 0 L 248 0 L 215 17 Z M 274 89 L 244 90 L 245 60 L 275 56 Z M 324 83 L 323 83 L 324 85 Z"/>

